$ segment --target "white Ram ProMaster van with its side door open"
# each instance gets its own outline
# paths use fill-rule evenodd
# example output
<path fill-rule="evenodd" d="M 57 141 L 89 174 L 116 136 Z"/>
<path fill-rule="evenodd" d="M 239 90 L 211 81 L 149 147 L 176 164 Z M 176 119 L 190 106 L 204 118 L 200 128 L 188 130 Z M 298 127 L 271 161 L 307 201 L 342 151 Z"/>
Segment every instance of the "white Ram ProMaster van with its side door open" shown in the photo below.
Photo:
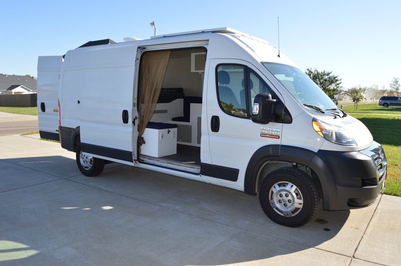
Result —
<path fill-rule="evenodd" d="M 42 137 L 87 176 L 113 161 L 259 195 L 273 221 L 367 206 L 386 158 L 357 119 L 267 41 L 216 28 L 40 56 Z"/>

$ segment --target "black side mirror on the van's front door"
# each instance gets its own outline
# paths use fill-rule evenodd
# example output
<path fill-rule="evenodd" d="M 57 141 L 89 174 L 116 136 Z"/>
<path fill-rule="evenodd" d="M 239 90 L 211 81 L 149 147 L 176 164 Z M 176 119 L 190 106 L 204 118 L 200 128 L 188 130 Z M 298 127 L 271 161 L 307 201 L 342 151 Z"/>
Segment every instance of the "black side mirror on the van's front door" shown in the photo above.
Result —
<path fill-rule="evenodd" d="M 252 110 L 251 119 L 256 123 L 267 124 L 277 120 L 274 114 L 274 104 L 277 100 L 272 99 L 270 93 L 259 93 L 254 99 L 254 108 Z"/>

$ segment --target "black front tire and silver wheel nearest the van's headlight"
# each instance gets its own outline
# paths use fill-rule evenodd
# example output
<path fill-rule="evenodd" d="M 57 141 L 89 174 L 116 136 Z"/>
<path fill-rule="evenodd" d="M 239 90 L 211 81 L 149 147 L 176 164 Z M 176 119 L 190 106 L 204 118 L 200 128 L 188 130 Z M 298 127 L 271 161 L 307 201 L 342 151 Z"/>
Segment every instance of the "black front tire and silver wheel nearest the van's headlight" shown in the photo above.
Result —
<path fill-rule="evenodd" d="M 316 215 L 320 205 L 318 189 L 312 178 L 293 167 L 269 173 L 260 186 L 259 201 L 272 221 L 290 227 L 307 223 Z"/>

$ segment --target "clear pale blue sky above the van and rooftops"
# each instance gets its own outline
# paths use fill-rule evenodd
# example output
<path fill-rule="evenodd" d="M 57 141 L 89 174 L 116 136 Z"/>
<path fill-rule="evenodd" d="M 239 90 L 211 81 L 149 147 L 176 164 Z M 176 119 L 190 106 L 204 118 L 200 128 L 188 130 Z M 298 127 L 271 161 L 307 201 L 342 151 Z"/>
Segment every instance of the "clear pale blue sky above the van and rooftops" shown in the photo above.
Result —
<path fill-rule="evenodd" d="M 398 0 L 12 0 L 0 1 L 0 73 L 37 76 L 40 55 L 89 40 L 149 38 L 229 26 L 278 45 L 300 69 L 332 71 L 342 86 L 389 88 L 401 78 Z"/>

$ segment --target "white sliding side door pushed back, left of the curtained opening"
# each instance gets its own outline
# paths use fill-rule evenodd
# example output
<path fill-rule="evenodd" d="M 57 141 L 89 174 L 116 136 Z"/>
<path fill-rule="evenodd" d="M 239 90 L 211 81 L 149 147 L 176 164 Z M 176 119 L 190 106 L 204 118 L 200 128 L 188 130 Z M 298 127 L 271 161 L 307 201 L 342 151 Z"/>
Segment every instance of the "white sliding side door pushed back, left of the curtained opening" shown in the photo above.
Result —
<path fill-rule="evenodd" d="M 136 43 L 83 48 L 69 60 L 80 60 L 84 80 L 80 98 L 82 151 L 133 165 L 133 110 Z"/>

